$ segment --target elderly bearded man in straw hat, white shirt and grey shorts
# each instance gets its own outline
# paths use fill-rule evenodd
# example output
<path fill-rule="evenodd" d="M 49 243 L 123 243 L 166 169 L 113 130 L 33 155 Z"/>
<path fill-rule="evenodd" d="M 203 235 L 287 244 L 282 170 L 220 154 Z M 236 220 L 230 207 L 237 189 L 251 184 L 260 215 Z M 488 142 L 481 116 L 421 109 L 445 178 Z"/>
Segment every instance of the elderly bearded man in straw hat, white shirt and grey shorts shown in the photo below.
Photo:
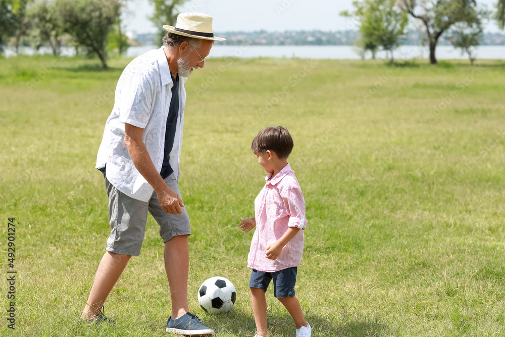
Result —
<path fill-rule="evenodd" d="M 160 225 L 172 316 L 167 331 L 213 335 L 189 313 L 189 218 L 178 187 L 186 91 L 193 69 L 203 68 L 215 40 L 212 17 L 182 13 L 164 46 L 135 58 L 119 78 L 96 168 L 103 172 L 112 228 L 82 318 L 102 322 L 101 310 L 132 256 L 140 255 L 147 213 Z"/>

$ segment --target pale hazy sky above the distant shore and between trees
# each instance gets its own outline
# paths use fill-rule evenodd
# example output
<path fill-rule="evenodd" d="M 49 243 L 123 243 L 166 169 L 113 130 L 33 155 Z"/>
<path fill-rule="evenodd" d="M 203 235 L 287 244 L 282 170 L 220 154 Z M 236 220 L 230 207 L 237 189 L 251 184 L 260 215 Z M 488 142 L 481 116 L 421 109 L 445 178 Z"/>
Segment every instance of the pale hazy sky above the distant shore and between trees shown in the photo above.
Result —
<path fill-rule="evenodd" d="M 478 4 L 494 9 L 497 0 L 479 0 Z M 126 29 L 137 33 L 154 32 L 147 19 L 153 6 L 148 0 L 130 0 L 124 16 Z M 357 29 L 339 13 L 352 10 L 352 0 L 190 0 L 181 12 L 200 12 L 213 17 L 213 29 L 225 31 L 284 31 Z M 411 22 L 415 22 L 411 20 Z M 496 32 L 495 22 L 486 31 Z"/>

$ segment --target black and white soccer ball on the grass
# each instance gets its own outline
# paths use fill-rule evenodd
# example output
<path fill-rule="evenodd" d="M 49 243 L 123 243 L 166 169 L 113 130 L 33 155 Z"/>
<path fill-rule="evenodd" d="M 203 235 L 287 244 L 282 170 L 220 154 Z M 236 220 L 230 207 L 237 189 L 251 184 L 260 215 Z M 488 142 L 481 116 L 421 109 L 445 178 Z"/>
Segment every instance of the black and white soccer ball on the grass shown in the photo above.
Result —
<path fill-rule="evenodd" d="M 212 315 L 230 311 L 236 300 L 235 286 L 224 277 L 211 277 L 201 283 L 198 290 L 200 307 Z"/>

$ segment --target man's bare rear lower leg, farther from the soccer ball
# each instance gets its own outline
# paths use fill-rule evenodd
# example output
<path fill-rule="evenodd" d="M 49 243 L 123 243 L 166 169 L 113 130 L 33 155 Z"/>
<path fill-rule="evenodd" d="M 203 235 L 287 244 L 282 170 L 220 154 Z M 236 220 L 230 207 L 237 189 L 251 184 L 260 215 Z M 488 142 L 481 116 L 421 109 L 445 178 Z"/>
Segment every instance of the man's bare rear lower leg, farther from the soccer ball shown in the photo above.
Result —
<path fill-rule="evenodd" d="M 131 255 L 106 252 L 98 265 L 88 301 L 82 312 L 83 319 L 93 319 L 100 313 L 100 308 L 109 296 L 114 284 L 130 260 Z"/>

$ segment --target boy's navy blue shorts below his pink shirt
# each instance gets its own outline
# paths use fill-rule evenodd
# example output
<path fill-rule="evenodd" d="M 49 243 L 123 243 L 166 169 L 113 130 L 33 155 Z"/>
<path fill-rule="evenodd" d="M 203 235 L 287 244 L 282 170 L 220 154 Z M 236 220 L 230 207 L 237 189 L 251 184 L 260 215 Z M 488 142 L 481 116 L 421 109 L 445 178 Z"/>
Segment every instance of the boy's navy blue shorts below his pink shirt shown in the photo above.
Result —
<path fill-rule="evenodd" d="M 297 267 L 290 267 L 274 272 L 260 271 L 252 269 L 250 288 L 260 288 L 267 292 L 270 281 L 274 280 L 274 297 L 292 297 L 294 296 L 294 284 L 296 283 Z"/>

